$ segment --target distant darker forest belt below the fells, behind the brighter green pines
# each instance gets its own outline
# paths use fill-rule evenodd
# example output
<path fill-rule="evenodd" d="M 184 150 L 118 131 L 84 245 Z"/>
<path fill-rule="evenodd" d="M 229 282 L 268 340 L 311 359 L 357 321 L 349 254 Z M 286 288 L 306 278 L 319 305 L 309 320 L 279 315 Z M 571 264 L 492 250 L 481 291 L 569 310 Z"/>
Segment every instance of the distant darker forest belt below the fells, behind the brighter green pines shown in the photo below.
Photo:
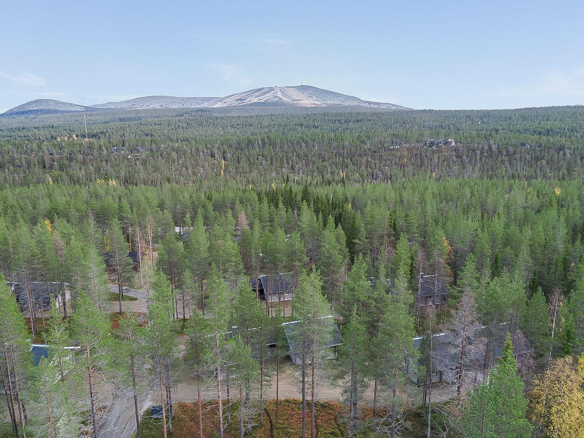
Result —
<path fill-rule="evenodd" d="M 89 142 L 82 140 L 79 114 L 34 117 L 26 124 L 22 118 L 0 121 L 3 182 L 39 183 L 48 173 L 55 182 L 116 178 L 132 185 L 190 184 L 222 170 L 242 184 L 303 178 L 325 185 L 395 181 L 419 173 L 512 179 L 583 175 L 581 107 L 152 110 L 89 113 L 87 118 Z M 454 146 L 438 144 L 448 140 Z"/>

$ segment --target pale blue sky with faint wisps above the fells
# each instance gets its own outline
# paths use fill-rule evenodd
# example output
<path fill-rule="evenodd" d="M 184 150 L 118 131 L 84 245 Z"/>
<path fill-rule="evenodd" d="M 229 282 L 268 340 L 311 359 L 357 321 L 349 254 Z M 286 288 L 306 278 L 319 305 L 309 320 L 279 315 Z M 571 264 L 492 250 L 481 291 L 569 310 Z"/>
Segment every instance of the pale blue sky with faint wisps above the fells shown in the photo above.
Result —
<path fill-rule="evenodd" d="M 582 1 L 21 1 L 0 112 L 305 85 L 415 108 L 584 103 Z"/>

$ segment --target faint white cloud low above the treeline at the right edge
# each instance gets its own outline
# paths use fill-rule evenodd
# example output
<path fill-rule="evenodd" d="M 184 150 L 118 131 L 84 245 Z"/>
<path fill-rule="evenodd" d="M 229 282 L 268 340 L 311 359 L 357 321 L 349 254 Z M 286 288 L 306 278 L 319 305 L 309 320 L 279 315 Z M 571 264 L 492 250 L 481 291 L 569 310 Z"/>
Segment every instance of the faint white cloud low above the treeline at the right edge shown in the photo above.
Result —
<path fill-rule="evenodd" d="M 499 93 L 500 97 L 543 95 L 584 96 L 584 67 L 549 69 L 525 85 L 512 86 Z"/>

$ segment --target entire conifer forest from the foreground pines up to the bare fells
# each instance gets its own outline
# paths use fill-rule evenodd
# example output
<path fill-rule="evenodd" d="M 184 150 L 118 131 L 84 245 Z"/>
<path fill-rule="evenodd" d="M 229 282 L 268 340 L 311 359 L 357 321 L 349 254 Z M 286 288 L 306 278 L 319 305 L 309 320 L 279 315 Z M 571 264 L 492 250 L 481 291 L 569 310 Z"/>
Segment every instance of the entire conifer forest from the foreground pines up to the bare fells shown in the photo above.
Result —
<path fill-rule="evenodd" d="M 583 436 L 582 107 L 86 117 L 89 140 L 80 114 L 0 120 L 19 436 L 97 437 L 111 394 L 150 394 L 175 437 L 273 437 L 279 416 L 288 436 Z M 293 298 L 259 300 L 263 274 Z M 11 291 L 35 281 L 67 283 L 50 311 Z M 296 407 L 267 396 L 291 345 Z"/>

